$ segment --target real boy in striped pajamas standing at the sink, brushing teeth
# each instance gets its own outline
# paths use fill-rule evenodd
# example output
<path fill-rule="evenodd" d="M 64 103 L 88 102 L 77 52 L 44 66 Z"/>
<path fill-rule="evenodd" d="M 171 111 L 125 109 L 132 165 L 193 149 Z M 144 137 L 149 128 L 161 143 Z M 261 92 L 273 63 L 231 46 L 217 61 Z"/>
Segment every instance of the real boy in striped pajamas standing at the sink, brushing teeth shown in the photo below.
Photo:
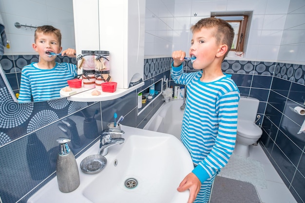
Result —
<path fill-rule="evenodd" d="M 239 91 L 221 64 L 228 54 L 234 30 L 225 20 L 204 18 L 191 27 L 190 56 L 198 72 L 183 73 L 185 52 L 172 53 L 172 79 L 187 85 L 181 140 L 189 150 L 194 169 L 180 183 L 190 189 L 188 203 L 208 203 L 215 176 L 235 147 Z"/>

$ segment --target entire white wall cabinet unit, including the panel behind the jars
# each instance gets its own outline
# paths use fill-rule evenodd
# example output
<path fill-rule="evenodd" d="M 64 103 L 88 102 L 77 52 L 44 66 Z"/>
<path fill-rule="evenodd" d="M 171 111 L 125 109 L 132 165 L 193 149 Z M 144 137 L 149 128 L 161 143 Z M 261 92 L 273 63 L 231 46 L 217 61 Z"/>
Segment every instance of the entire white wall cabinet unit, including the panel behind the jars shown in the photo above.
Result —
<path fill-rule="evenodd" d="M 142 79 L 145 0 L 73 0 L 73 9 L 77 55 L 109 51 L 110 75 L 119 89 Z"/>

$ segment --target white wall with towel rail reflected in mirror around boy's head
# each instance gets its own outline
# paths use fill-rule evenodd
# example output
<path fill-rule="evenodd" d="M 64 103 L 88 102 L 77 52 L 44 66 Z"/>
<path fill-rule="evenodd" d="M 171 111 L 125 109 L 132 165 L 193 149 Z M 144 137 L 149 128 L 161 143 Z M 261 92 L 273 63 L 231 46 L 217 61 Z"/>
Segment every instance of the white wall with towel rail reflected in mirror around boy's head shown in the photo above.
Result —
<path fill-rule="evenodd" d="M 32 48 L 35 29 L 18 29 L 15 22 L 32 26 L 53 25 L 61 31 L 63 49 L 75 49 L 72 0 L 0 0 L 0 13 L 11 47 L 5 48 L 5 55 L 37 54 Z"/>

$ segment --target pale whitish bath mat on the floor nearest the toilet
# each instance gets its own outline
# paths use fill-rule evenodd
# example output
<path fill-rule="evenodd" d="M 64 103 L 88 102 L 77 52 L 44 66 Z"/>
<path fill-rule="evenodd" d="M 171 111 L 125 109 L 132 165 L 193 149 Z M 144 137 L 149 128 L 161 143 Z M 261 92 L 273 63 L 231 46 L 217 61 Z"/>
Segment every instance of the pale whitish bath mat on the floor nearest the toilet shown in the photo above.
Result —
<path fill-rule="evenodd" d="M 264 168 L 259 161 L 232 154 L 228 164 L 222 168 L 220 176 L 251 183 L 267 189 Z"/>

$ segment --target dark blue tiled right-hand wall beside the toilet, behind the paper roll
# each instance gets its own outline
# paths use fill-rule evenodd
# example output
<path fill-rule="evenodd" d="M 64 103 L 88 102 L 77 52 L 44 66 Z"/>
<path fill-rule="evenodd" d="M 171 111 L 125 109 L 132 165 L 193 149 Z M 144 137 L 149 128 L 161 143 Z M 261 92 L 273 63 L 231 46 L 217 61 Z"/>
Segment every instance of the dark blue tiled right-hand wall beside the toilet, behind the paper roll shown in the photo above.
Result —
<path fill-rule="evenodd" d="M 289 107 L 304 107 L 305 66 L 276 65 L 260 139 L 284 183 L 297 200 L 305 202 L 305 134 L 298 134 L 304 116 Z"/>

